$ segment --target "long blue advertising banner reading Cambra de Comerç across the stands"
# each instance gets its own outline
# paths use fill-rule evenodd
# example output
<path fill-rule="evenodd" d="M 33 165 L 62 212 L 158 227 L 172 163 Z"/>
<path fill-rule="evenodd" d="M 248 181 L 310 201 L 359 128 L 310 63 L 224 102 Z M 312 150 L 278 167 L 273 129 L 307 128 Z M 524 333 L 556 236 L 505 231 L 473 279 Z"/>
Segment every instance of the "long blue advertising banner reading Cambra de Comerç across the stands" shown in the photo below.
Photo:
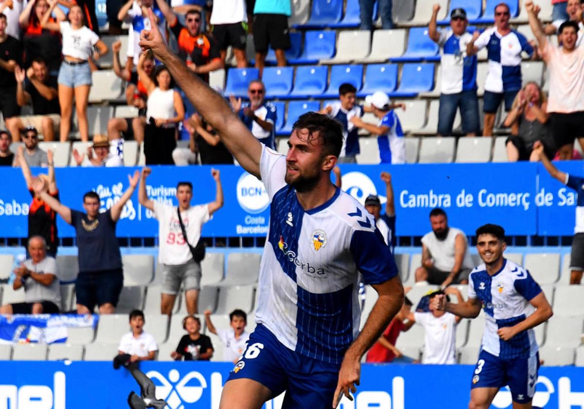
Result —
<path fill-rule="evenodd" d="M 584 175 L 582 161 L 558 164 Z M 269 222 L 269 199 L 262 182 L 237 166 L 218 166 L 225 194 L 223 209 L 203 226 L 205 237 L 263 236 Z M 83 210 L 82 196 L 94 190 L 105 212 L 128 187 L 127 175 L 135 168 L 60 168 L 56 170 L 61 202 Z M 571 235 L 575 194 L 551 179 L 540 164 L 436 164 L 342 165 L 343 190 L 361 203 L 370 194 L 385 203 L 382 171 L 392 174 L 397 212 L 397 234 L 423 235 L 430 231 L 428 213 L 442 207 L 451 226 L 467 234 L 484 223 L 498 223 L 510 235 Z M 33 173 L 46 172 L 33 169 Z M 2 169 L 0 237 L 26 237 L 30 193 L 20 169 Z M 211 167 L 154 167 L 147 179 L 152 200 L 176 204 L 176 183 L 193 183 L 193 204 L 215 198 Z M 138 203 L 137 192 L 128 200 L 117 226 L 120 237 L 154 237 L 158 221 Z M 74 230 L 58 217 L 61 237 Z"/>

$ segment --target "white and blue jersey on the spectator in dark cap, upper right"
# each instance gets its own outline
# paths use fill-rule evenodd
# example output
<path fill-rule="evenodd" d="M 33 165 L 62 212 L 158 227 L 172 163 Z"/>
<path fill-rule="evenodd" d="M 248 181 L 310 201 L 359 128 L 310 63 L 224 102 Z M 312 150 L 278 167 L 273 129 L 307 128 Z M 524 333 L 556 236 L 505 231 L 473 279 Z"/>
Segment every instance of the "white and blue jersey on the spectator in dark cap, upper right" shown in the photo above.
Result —
<path fill-rule="evenodd" d="M 440 31 L 438 45 L 442 47 L 442 89 L 444 94 L 474 91 L 477 89 L 477 56 L 467 56 L 467 44 L 472 34 L 454 34 L 452 29 Z"/>

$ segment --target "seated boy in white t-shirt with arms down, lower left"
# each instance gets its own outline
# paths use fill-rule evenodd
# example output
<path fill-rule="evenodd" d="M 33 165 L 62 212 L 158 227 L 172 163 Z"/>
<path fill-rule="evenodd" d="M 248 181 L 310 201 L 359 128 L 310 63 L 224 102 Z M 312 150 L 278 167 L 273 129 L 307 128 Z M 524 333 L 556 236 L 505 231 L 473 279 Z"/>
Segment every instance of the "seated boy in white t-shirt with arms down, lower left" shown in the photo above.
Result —
<path fill-rule="evenodd" d="M 131 355 L 130 362 L 154 361 L 158 345 L 151 334 L 144 332 L 144 313 L 141 310 L 133 310 L 130 313 L 131 332 L 128 332 L 120 340 L 117 348 L 119 354 Z"/>

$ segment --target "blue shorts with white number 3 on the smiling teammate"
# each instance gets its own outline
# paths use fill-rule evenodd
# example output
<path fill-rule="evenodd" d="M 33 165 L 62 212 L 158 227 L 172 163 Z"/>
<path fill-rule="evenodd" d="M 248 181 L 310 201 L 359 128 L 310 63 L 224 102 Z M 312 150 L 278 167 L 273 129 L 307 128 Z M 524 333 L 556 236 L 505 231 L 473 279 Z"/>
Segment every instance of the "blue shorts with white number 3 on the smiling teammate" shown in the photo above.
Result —
<path fill-rule="evenodd" d="M 471 389 L 501 388 L 509 385 L 513 401 L 527 403 L 536 393 L 539 368 L 539 353 L 530 358 L 501 359 L 481 350 L 472 373 Z"/>

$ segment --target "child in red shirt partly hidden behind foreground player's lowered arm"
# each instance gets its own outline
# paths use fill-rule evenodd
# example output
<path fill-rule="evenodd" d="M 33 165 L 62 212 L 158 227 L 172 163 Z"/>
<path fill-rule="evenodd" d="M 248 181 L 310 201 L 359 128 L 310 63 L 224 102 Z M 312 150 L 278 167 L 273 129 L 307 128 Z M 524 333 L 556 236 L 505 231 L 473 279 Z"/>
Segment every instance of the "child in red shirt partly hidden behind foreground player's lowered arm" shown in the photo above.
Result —
<path fill-rule="evenodd" d="M 367 353 L 367 362 L 394 362 L 394 363 L 413 363 L 415 359 L 409 358 L 402 354 L 399 349 L 395 348 L 395 342 L 399 337 L 400 332 L 406 332 L 414 324 L 412 320 L 408 320 L 408 314 L 412 308 L 412 301 L 405 297 L 404 305 L 401 310 L 391 320 L 390 325 L 385 328 L 381 337 L 373 344 Z"/>

